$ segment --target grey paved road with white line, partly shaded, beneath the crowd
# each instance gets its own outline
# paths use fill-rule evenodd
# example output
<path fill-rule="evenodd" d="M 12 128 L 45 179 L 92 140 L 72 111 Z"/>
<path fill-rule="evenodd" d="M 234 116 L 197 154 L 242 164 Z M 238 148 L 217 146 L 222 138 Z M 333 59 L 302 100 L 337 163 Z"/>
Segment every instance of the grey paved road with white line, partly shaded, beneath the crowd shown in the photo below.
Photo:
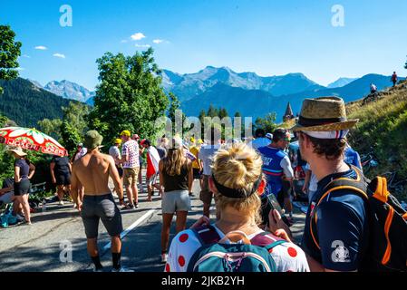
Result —
<path fill-rule="evenodd" d="M 188 225 L 202 215 L 198 181 L 194 183 L 193 191 L 195 197 L 192 198 Z M 147 202 L 146 198 L 146 194 L 141 194 L 140 208 L 122 211 L 123 227 L 133 227 L 123 238 L 122 265 L 138 272 L 161 272 L 164 266 L 160 264 L 160 198 L 155 196 L 152 202 Z M 300 238 L 304 215 L 296 214 L 295 218 L 297 223 L 292 229 L 295 237 Z M 48 205 L 46 212 L 34 214 L 32 220 L 32 226 L 0 229 L 0 271 L 91 271 L 82 219 L 72 203 L 65 203 L 64 206 Z M 109 271 L 111 255 L 106 245 L 110 242 L 110 237 L 102 223 L 99 229 L 102 265 Z M 173 227 L 170 238 L 174 234 Z M 72 262 L 65 263 L 61 261 L 60 255 L 69 245 L 72 245 Z M 103 247 L 106 249 L 103 250 Z M 66 255 L 62 256 L 66 261 Z"/>

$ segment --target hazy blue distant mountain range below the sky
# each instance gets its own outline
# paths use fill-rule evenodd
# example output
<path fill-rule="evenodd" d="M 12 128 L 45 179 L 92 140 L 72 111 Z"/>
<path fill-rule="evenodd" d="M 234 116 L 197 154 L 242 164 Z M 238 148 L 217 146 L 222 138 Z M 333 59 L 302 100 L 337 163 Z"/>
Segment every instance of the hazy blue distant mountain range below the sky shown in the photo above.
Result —
<path fill-rule="evenodd" d="M 239 111 L 243 116 L 263 117 L 275 111 L 280 121 L 291 103 L 294 113 L 301 110 L 305 98 L 327 95 L 340 96 L 352 102 L 369 93 L 370 83 L 379 90 L 391 85 L 390 76 L 367 74 L 362 78 L 340 78 L 322 86 L 303 73 L 288 73 L 281 76 L 259 76 L 256 73 L 236 73 L 228 67 L 207 66 L 198 73 L 174 73 L 163 70 L 160 74 L 165 92 L 173 92 L 181 102 L 187 116 L 198 116 L 199 111 L 208 110 L 210 104 L 227 109 L 230 115 Z M 37 88 L 41 84 L 35 83 Z M 79 84 L 69 81 L 48 82 L 44 90 L 65 99 L 93 105 L 91 92 Z"/>

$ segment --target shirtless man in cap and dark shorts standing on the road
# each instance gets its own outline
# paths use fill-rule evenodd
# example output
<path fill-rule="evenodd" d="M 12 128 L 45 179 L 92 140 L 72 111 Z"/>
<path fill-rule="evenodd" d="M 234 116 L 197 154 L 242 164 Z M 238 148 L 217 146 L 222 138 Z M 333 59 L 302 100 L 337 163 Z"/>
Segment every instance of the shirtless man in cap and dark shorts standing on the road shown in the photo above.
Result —
<path fill-rule="evenodd" d="M 114 187 L 123 204 L 123 188 L 119 172 L 114 160 L 109 155 L 102 154 L 99 148 L 102 136 L 97 131 L 88 131 L 84 137 L 84 146 L 88 153 L 80 160 L 73 162 L 72 189 L 73 201 L 81 212 L 87 237 L 88 253 L 92 258 L 95 272 L 102 272 L 102 264 L 98 252 L 98 226 L 102 219 L 111 236 L 112 272 L 133 272 L 121 266 L 121 213 L 117 208 L 109 188 L 109 177 L 113 179 Z M 78 188 L 83 186 L 83 203 L 78 198 Z"/>

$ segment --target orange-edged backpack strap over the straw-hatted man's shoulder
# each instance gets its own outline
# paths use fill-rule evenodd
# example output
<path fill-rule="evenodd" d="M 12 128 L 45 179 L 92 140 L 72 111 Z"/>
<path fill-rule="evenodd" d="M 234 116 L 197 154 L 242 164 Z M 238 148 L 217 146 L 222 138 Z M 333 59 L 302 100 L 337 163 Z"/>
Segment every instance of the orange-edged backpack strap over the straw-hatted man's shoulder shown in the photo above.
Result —
<path fill-rule="evenodd" d="M 315 243 L 315 246 L 318 247 L 318 249 L 321 249 L 319 246 L 318 242 L 318 237 L 317 237 L 317 208 L 318 206 L 329 196 L 334 191 L 337 190 L 349 190 L 350 193 L 354 193 L 355 195 L 358 195 L 362 197 L 364 200 L 367 200 L 369 198 L 368 194 L 368 187 L 367 184 L 369 183 L 370 180 L 365 179 L 363 176 L 363 173 L 361 172 L 360 169 L 356 168 L 355 166 L 351 165 L 352 169 L 356 172 L 356 179 L 348 179 L 348 178 L 339 178 L 339 179 L 334 179 L 330 183 L 328 183 L 325 186 L 325 193 L 315 202 L 315 207 L 311 211 L 311 219 L 310 219 L 310 232 L 311 232 L 311 237 L 313 238 L 313 241 Z"/>

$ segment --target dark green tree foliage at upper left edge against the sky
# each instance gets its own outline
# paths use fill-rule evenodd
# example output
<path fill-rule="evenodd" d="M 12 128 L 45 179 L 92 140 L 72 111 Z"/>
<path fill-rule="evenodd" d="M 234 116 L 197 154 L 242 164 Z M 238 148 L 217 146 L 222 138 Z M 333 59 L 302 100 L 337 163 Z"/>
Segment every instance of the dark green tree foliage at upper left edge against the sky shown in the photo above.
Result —
<path fill-rule="evenodd" d="M 16 70 L 21 55 L 21 43 L 15 42 L 15 32 L 9 25 L 0 25 L 0 80 L 13 80 L 18 77 Z M 0 87 L 0 94 L 3 89 Z"/>

